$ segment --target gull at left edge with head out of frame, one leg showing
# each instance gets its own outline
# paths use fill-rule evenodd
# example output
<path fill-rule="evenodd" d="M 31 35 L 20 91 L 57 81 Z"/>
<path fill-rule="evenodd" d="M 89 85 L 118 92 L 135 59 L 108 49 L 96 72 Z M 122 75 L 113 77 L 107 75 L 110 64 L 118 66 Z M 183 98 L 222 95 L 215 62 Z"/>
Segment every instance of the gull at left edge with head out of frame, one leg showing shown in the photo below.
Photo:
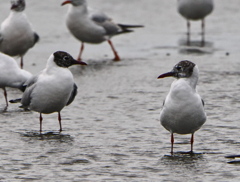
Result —
<path fill-rule="evenodd" d="M 28 71 L 20 69 L 16 61 L 3 53 L 0 53 L 0 88 L 4 91 L 6 101 L 5 110 L 8 107 L 6 87 L 18 88 L 24 91 L 24 83 L 32 77 Z"/>

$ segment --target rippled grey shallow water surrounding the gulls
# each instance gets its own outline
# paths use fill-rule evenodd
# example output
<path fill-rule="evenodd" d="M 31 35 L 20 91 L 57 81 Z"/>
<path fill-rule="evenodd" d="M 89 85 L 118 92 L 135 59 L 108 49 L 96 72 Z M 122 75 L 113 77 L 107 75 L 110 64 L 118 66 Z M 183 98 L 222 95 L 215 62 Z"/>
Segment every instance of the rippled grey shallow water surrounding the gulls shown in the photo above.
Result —
<path fill-rule="evenodd" d="M 161 2 L 161 3 L 160 3 Z M 67 7 L 59 2 L 27 2 L 27 14 L 41 41 L 25 56 L 33 74 L 49 55 L 64 50 L 77 56 L 79 42 L 67 31 Z M 239 1 L 218 0 L 206 19 L 204 48 L 199 47 L 200 22 L 192 27 L 192 46 L 185 45 L 186 22 L 169 0 L 89 1 L 116 21 L 144 24 L 135 33 L 113 38 L 121 62 L 112 62 L 107 43 L 86 45 L 85 68 L 72 67 L 79 87 L 75 101 L 57 114 L 43 115 L 10 105 L 0 113 L 1 181 L 239 181 L 239 165 L 225 158 L 240 154 Z M 116 6 L 117 4 L 117 6 Z M 115 6 L 114 6 L 115 5 Z M 1 2 L 2 21 L 8 2 Z M 207 122 L 195 134 L 170 134 L 159 123 L 159 112 L 171 78 L 156 79 L 183 59 L 200 70 L 198 92 L 205 101 Z M 19 61 L 17 59 L 17 61 Z M 9 99 L 21 93 L 8 89 Z M 4 98 L 0 95 L 0 109 Z"/>

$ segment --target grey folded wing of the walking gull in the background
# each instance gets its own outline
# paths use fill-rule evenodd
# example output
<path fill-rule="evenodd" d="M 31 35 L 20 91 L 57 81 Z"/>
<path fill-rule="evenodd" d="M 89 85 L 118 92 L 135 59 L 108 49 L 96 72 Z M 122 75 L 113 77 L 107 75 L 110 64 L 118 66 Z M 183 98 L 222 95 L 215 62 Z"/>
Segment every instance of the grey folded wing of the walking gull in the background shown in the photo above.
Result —
<path fill-rule="evenodd" d="M 99 26 L 102 26 L 106 30 L 107 35 L 115 35 L 121 31 L 121 28 L 106 14 L 94 10 L 91 10 L 90 12 L 91 19 Z"/>

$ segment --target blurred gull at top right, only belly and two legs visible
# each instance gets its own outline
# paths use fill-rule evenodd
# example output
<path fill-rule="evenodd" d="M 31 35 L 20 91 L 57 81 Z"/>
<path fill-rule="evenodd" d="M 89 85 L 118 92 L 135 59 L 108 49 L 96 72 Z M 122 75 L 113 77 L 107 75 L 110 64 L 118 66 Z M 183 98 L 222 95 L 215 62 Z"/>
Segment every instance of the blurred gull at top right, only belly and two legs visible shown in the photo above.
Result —
<path fill-rule="evenodd" d="M 178 12 L 187 19 L 187 43 L 190 44 L 190 20 L 202 20 L 202 46 L 204 45 L 204 18 L 213 10 L 213 0 L 178 0 Z"/>

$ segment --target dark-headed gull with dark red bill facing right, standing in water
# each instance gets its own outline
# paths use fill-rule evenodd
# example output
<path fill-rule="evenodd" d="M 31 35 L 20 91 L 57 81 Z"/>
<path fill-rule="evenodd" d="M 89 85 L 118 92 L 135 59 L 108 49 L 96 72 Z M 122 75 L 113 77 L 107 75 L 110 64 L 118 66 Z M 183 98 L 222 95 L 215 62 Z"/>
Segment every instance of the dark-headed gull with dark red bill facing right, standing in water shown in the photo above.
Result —
<path fill-rule="evenodd" d="M 60 112 L 72 103 L 77 94 L 77 85 L 68 69 L 75 64 L 86 65 L 82 61 L 76 61 L 66 52 L 57 51 L 49 57 L 46 68 L 27 81 L 21 107 L 40 113 L 40 132 L 42 132 L 42 113 L 53 112 L 58 112 L 59 131 L 62 131 Z M 14 103 L 15 100 L 11 102 Z"/>

